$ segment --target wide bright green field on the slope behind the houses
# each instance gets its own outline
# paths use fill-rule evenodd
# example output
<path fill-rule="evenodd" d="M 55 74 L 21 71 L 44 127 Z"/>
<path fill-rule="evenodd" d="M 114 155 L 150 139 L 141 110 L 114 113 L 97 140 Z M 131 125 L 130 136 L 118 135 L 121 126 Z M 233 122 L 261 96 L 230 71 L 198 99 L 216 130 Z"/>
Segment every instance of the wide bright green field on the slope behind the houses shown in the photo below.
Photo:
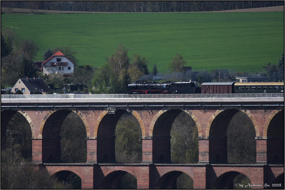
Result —
<path fill-rule="evenodd" d="M 12 28 L 45 50 L 70 46 L 79 65 L 99 67 L 119 43 L 164 72 L 180 53 L 199 71 L 228 69 L 255 73 L 284 53 L 284 12 L 94 13 L 1 15 L 1 30 Z"/>

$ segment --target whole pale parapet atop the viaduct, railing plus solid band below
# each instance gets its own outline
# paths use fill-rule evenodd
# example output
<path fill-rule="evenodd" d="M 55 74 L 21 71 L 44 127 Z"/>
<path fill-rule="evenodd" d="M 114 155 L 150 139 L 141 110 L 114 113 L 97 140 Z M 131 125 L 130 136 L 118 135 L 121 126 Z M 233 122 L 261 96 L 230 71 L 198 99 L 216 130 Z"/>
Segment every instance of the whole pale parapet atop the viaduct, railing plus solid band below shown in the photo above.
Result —
<path fill-rule="evenodd" d="M 254 103 L 284 102 L 284 94 L 48 94 L 1 95 L 1 103 Z M 144 105 L 144 104 L 143 104 Z M 163 105 L 163 104 L 162 104 Z"/>

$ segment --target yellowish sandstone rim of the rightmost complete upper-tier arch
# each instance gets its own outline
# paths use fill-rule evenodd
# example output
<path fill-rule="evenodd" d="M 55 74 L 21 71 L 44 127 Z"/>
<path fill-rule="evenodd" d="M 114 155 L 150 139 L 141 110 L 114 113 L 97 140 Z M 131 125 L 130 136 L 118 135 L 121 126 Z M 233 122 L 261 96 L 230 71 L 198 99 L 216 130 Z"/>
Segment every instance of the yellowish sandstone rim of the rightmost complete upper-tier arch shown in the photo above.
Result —
<path fill-rule="evenodd" d="M 231 109 L 236 109 L 236 108 L 231 108 Z M 225 109 L 225 110 L 217 110 L 217 111 L 215 111 L 215 113 L 213 113 L 213 115 L 211 116 L 211 118 L 209 119 L 209 122 L 207 124 L 206 137 L 209 137 L 209 132 L 210 132 L 210 128 L 211 128 L 211 124 L 212 124 L 213 120 L 217 117 L 217 115 L 219 115 L 219 113 L 221 113 L 223 111 L 226 111 L 226 110 L 227 109 Z M 248 110 L 245 110 L 245 109 L 236 109 L 236 110 L 239 110 L 239 111 L 245 113 L 245 115 L 247 115 L 249 117 L 249 119 L 252 121 L 253 126 L 255 128 L 255 135 L 259 136 L 258 125 L 257 125 L 257 122 L 256 122 L 255 118 L 253 117 L 253 115 L 251 115 L 251 113 Z"/>

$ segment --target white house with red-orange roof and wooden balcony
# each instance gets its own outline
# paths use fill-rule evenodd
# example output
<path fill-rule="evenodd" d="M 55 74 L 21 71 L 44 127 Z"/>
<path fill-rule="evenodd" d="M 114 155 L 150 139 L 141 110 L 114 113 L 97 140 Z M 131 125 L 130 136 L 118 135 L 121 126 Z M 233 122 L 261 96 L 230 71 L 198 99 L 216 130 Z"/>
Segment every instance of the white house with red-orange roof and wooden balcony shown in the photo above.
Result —
<path fill-rule="evenodd" d="M 42 63 L 44 75 L 63 73 L 64 77 L 69 77 L 73 73 L 75 65 L 77 64 L 60 51 L 55 52 L 55 50 L 54 54 Z"/>

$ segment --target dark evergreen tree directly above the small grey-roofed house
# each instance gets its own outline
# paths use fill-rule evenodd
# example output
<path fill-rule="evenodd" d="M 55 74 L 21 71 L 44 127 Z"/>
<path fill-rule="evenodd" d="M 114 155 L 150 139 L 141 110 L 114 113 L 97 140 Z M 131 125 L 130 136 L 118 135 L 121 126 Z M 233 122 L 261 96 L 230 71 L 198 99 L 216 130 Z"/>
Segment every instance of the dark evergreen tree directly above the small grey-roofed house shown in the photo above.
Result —
<path fill-rule="evenodd" d="M 36 77 L 38 72 L 34 69 L 33 62 L 27 57 L 24 57 L 20 66 L 19 77 L 21 79 L 26 77 Z"/>

